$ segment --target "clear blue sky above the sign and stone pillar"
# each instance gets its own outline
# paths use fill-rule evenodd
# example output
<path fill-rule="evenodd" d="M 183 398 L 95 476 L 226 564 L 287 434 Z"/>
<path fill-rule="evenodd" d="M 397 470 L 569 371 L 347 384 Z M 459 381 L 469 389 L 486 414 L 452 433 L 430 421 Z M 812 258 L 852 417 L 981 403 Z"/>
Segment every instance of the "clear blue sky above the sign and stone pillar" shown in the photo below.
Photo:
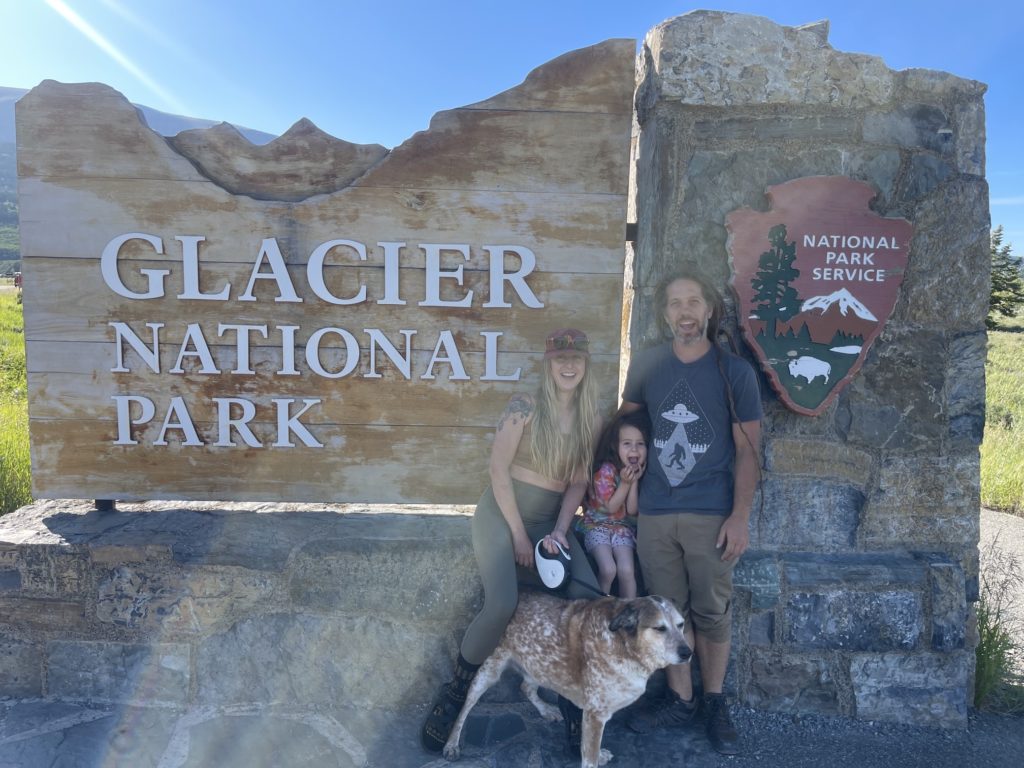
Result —
<path fill-rule="evenodd" d="M 1024 252 L 1024 9 L 976 0 L 0 0 L 0 86 L 98 81 L 165 112 L 283 133 L 302 117 L 394 146 L 434 113 L 486 98 L 565 51 L 642 40 L 695 8 L 795 26 L 834 48 L 980 80 L 992 225 Z"/>

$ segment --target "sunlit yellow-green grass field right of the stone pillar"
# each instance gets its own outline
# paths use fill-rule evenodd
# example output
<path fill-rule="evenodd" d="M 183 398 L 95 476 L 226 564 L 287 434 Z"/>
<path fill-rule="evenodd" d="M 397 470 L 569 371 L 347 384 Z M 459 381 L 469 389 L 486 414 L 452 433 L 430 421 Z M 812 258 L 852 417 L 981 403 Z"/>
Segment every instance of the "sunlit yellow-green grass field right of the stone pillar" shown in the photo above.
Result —
<path fill-rule="evenodd" d="M 1024 317 L 1005 327 L 988 335 L 981 503 L 1024 516 Z"/>

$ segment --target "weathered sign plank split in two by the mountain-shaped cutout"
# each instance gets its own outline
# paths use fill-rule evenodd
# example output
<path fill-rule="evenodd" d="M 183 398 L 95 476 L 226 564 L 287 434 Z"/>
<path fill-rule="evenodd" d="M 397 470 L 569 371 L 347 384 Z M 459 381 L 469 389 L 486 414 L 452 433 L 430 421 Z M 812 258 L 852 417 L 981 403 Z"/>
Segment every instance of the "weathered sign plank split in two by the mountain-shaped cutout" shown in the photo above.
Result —
<path fill-rule="evenodd" d="M 42 86 L 40 86 L 41 88 Z M 30 91 L 26 97 L 32 96 Z M 116 92 L 115 92 L 116 93 Z M 53 136 L 47 151 L 18 146 L 18 173 L 29 178 L 147 178 L 198 181 L 195 167 L 143 126 L 124 99 L 77 93 L 53 100 L 51 109 L 18 110 L 17 133 Z M 106 114 L 97 110 L 106 106 Z M 131 111 L 131 115 L 126 112 Z M 113 118 L 119 115 L 120 120 Z M 515 191 L 617 194 L 627 182 L 622 162 L 629 150 L 629 123 L 622 115 L 498 110 L 439 113 L 430 130 L 417 133 L 353 186 L 507 189 Z M 40 119 L 42 118 L 42 119 Z M 134 120 L 135 126 L 128 127 Z M 61 126 L 53 133 L 47 121 Z M 104 122 L 121 127 L 103 135 Z M 58 136 L 74 136 L 71 141 Z M 162 146 L 160 144 L 163 144 Z M 499 147 L 501 151 L 499 151 Z M 558 163 L 552 164 L 552 158 Z"/>

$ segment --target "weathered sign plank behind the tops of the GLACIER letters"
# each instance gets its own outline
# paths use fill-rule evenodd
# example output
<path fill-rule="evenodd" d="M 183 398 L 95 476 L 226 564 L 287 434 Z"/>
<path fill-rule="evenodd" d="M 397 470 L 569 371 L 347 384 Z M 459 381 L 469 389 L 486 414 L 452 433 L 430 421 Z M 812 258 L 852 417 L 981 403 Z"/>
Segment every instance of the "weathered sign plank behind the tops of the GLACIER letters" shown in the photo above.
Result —
<path fill-rule="evenodd" d="M 128 245 L 124 257 L 181 261 L 175 236 L 206 238 L 203 262 L 252 264 L 264 238 L 279 241 L 287 263 L 304 264 L 330 240 L 366 245 L 380 263 L 378 242 L 406 243 L 402 265 L 424 266 L 422 243 L 470 246 L 467 268 L 489 263 L 484 245 L 520 245 L 548 271 L 622 272 L 626 236 L 623 195 L 574 196 L 453 189 L 344 189 L 286 205 L 230 197 L 208 181 L 150 179 L 23 179 L 22 253 L 26 257 L 98 258 L 115 237 L 145 231 L 164 240 L 165 253 Z M 60 221 L 60 226 L 53 226 Z M 509 269 L 515 266 L 506 258 Z"/>

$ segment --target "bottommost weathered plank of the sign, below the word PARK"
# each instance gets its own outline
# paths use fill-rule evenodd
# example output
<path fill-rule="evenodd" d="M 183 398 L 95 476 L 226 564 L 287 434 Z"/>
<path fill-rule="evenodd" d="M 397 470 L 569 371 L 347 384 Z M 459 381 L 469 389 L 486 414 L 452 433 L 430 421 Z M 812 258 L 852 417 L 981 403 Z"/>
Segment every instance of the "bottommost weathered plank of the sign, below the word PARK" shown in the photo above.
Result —
<path fill-rule="evenodd" d="M 215 441 L 216 425 L 197 424 Z M 37 422 L 33 472 L 37 499 L 194 499 L 472 504 L 487 484 L 494 428 L 314 427 L 323 449 L 272 447 L 275 430 L 253 432 L 268 447 L 118 446 L 113 422 Z M 141 435 L 152 440 L 160 425 Z"/>

